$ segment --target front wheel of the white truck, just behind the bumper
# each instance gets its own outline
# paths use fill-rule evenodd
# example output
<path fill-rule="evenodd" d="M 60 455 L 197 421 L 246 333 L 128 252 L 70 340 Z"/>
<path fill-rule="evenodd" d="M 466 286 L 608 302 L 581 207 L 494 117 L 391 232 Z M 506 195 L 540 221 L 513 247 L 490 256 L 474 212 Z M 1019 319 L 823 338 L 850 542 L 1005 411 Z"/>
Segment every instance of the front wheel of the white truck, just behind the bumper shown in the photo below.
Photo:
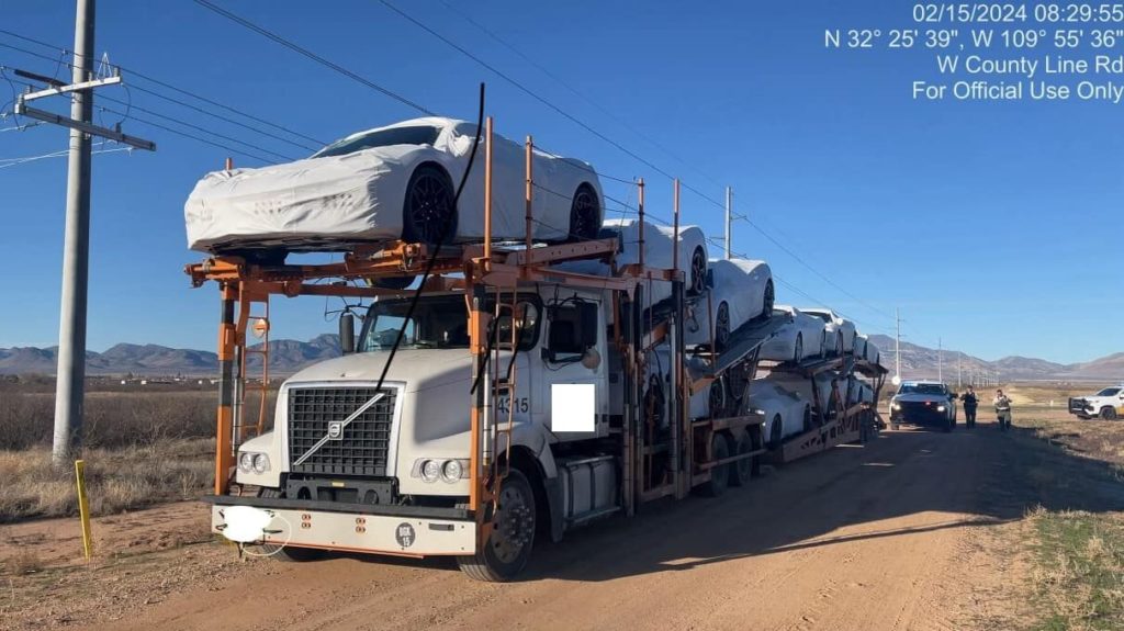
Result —
<path fill-rule="evenodd" d="M 456 565 L 477 580 L 504 583 L 515 578 L 535 542 L 535 494 L 519 469 L 511 469 L 500 485 L 491 534 L 475 555 L 456 557 Z"/>

